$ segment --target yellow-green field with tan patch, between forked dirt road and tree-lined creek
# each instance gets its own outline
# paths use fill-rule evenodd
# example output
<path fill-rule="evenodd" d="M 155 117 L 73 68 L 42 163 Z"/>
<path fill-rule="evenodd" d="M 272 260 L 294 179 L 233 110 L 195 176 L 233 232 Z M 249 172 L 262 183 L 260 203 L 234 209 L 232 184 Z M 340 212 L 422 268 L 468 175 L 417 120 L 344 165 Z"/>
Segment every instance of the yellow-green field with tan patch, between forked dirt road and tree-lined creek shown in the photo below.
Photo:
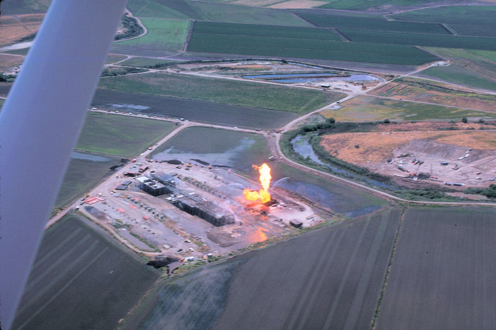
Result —
<path fill-rule="evenodd" d="M 460 109 L 451 106 L 400 101 L 380 97 L 359 95 L 341 103 L 338 110 L 327 109 L 320 114 L 336 121 L 376 121 L 376 120 L 456 120 L 463 117 L 496 118 L 489 112 Z"/>

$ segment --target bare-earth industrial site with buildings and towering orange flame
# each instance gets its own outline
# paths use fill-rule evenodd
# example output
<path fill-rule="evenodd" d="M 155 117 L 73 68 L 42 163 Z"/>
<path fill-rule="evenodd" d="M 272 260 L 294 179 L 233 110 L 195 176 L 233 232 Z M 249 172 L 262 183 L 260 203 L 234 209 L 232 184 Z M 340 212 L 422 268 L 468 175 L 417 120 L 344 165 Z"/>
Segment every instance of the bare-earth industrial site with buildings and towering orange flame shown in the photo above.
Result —
<path fill-rule="evenodd" d="M 132 249 L 183 263 L 323 221 L 309 205 L 271 187 L 266 163 L 252 165 L 260 173 L 253 182 L 198 161 L 133 160 L 77 208 Z"/>

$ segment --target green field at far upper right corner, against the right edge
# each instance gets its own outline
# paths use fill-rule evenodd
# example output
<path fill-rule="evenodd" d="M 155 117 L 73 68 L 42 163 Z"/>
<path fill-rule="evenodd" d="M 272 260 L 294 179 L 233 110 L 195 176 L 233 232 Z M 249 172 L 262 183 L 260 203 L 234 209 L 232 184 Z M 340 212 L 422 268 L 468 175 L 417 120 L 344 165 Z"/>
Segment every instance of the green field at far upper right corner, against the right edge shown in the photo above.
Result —
<path fill-rule="evenodd" d="M 449 24 L 449 27 L 460 35 L 496 37 L 495 14 L 494 6 L 466 5 L 414 10 L 390 17 L 405 21 Z"/>

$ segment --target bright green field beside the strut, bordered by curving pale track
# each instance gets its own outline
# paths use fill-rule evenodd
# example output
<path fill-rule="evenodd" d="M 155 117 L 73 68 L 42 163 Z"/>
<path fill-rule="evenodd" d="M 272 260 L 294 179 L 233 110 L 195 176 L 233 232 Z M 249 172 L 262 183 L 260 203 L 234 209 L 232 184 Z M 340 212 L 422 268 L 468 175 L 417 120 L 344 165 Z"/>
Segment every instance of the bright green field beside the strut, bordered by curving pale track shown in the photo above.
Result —
<path fill-rule="evenodd" d="M 142 18 L 148 32 L 138 38 L 114 42 L 112 53 L 137 56 L 166 56 L 183 49 L 188 20 Z"/>

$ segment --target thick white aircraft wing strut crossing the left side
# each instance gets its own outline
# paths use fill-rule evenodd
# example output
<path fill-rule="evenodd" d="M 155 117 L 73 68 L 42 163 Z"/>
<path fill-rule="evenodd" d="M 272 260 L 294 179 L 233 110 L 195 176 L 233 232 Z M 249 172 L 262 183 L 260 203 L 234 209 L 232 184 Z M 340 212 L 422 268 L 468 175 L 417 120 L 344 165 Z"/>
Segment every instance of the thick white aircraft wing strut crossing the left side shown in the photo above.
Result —
<path fill-rule="evenodd" d="M 54 0 L 0 113 L 0 320 L 10 329 L 126 0 Z"/>

